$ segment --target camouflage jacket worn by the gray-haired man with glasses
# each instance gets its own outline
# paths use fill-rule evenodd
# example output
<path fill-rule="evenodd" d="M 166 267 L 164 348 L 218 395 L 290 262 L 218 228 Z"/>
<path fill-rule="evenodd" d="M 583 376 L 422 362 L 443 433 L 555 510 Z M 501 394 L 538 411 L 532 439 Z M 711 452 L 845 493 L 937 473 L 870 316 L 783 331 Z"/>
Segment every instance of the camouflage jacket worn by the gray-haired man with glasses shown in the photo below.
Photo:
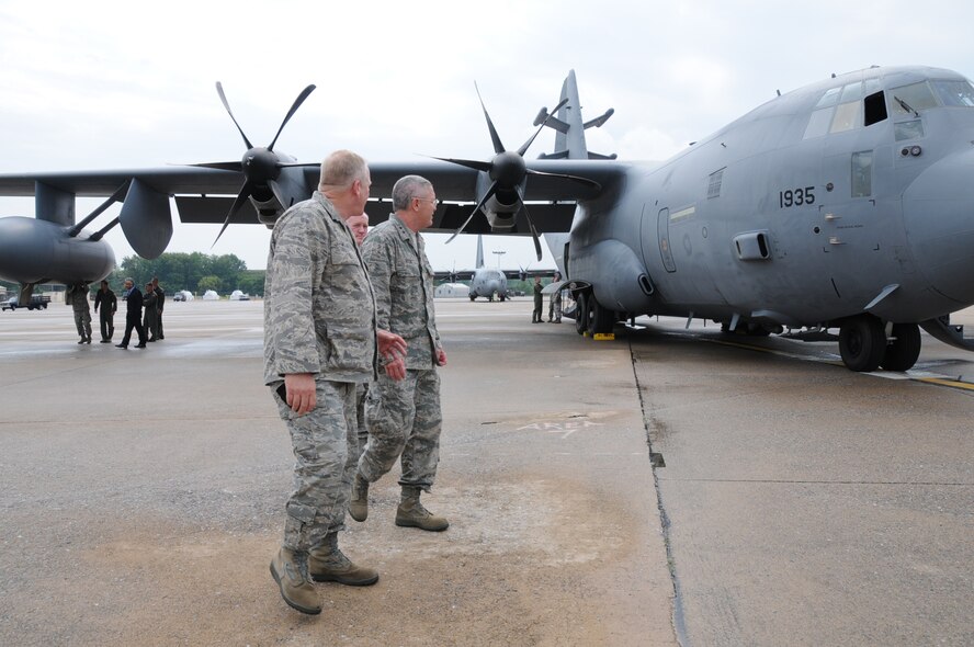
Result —
<path fill-rule="evenodd" d="M 393 214 L 365 237 L 362 257 L 375 291 L 378 327 L 406 340 L 407 368 L 432 368 L 440 333 L 433 310 L 433 269 L 422 236 Z"/>

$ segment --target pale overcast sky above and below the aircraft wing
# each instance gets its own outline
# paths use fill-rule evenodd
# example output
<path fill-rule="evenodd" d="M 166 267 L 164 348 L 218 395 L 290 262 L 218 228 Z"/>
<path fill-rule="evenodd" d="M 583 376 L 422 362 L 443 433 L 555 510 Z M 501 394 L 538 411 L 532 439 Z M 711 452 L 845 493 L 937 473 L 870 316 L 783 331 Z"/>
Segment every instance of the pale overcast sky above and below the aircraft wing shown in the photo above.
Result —
<path fill-rule="evenodd" d="M 508 148 L 575 69 L 582 114 L 615 115 L 589 148 L 661 160 L 782 93 L 871 65 L 974 76 L 974 3 L 494 0 L 77 3 L 0 0 L 0 173 L 238 160 L 224 84 L 256 145 L 308 83 L 318 89 L 275 146 L 303 161 L 337 148 L 370 160 L 487 159 L 474 91 Z M 539 137 L 528 157 L 551 149 Z M 100 201 L 79 201 L 79 217 Z M 0 198 L 0 216 L 33 215 Z M 110 212 L 112 214 L 114 212 Z M 103 215 L 106 219 L 110 215 Z M 102 220 L 99 220 L 101 223 Z M 174 223 L 169 251 L 236 253 L 262 269 L 269 231 Z M 132 249 L 109 237 L 118 261 Z M 473 265 L 476 241 L 428 235 L 437 269 Z M 501 264 L 534 260 L 529 238 L 489 237 Z"/>

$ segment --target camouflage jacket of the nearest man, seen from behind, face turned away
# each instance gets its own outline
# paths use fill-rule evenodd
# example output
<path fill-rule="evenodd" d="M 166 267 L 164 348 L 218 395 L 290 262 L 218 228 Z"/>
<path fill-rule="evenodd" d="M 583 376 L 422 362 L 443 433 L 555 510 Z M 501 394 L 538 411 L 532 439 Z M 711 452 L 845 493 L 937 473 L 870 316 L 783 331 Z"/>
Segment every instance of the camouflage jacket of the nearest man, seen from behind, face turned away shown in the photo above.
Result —
<path fill-rule="evenodd" d="M 352 232 L 320 192 L 282 215 L 264 280 L 264 384 L 375 377 L 375 298 Z"/>

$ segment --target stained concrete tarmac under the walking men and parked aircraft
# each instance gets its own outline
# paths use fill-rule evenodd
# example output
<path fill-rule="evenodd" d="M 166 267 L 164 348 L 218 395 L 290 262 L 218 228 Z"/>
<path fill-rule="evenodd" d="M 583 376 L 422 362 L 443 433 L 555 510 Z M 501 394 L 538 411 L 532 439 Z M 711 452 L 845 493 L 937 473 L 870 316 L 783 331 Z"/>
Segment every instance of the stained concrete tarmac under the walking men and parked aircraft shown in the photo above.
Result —
<path fill-rule="evenodd" d="M 268 572 L 293 458 L 259 302 L 167 304 L 125 351 L 3 313 L 0 644 L 974 644 L 963 351 L 925 334 L 891 381 L 836 344 L 437 307 L 451 527 L 396 527 L 394 470 L 341 538 L 378 583 L 318 586 L 316 617 Z"/>

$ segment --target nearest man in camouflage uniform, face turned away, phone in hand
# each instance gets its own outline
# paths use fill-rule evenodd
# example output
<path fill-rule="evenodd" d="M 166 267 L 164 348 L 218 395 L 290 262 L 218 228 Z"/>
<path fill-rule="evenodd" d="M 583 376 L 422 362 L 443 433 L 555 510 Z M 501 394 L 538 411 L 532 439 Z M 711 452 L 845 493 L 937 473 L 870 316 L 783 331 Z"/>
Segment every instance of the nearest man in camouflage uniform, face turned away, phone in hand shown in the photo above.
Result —
<path fill-rule="evenodd" d="M 362 213 L 370 183 L 360 156 L 331 154 L 318 191 L 275 224 L 268 256 L 264 383 L 297 459 L 271 575 L 284 601 L 308 614 L 321 604 L 307 577 L 352 586 L 378 579 L 338 548 L 358 454 L 355 385 L 374 378 L 377 353 L 395 371 L 406 352 L 401 338 L 376 330 L 369 274 L 344 223 Z"/>

